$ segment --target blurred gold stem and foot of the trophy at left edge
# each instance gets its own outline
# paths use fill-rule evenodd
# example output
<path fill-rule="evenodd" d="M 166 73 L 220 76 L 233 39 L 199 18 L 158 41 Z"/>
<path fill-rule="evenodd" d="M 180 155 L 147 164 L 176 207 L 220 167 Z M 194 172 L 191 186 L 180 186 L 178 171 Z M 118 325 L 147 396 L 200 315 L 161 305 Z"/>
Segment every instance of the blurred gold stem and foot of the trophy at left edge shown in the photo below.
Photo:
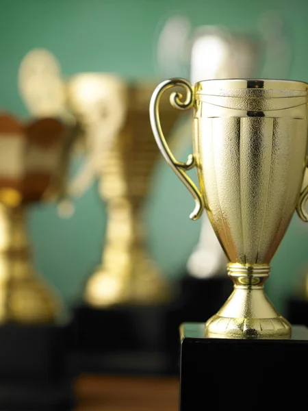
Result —
<path fill-rule="evenodd" d="M 0 323 L 55 319 L 59 304 L 34 275 L 25 208 L 0 205 Z"/>

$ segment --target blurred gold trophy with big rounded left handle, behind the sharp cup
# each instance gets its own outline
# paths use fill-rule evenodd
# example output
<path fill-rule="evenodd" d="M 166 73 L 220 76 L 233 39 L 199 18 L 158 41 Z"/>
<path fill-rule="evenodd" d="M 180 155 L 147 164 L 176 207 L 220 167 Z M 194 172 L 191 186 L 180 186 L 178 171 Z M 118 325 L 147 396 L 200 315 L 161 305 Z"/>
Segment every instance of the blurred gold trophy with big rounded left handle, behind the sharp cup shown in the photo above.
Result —
<path fill-rule="evenodd" d="M 25 81 L 27 79 L 27 81 Z M 26 87 L 29 79 L 39 84 Z M 147 195 L 158 151 L 152 138 L 148 107 L 153 82 L 127 83 L 107 73 L 79 73 L 68 79 L 47 50 L 30 51 L 21 64 L 21 92 L 32 113 L 73 116 L 79 142 L 86 153 L 81 171 L 68 184 L 74 198 L 99 179 L 107 203 L 107 232 L 102 262 L 88 279 L 85 300 L 94 307 L 118 303 L 159 303 L 170 297 L 168 282 L 149 258 L 142 225 Z M 164 127 L 169 132 L 178 113 L 166 97 Z M 63 201 L 60 210 L 69 210 Z"/>

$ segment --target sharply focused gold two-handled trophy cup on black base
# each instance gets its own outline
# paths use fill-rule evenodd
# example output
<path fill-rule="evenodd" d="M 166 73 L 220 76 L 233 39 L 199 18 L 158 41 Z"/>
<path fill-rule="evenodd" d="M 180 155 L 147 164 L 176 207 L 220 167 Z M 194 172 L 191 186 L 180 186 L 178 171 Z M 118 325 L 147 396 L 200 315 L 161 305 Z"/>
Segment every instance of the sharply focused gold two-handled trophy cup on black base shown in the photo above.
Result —
<path fill-rule="evenodd" d="M 174 108 L 194 108 L 194 154 L 177 161 L 162 133 L 159 99 L 174 92 Z M 153 134 L 170 167 L 190 190 L 198 219 L 203 208 L 227 256 L 234 290 L 205 323 L 216 338 L 290 338 L 291 327 L 264 293 L 270 261 L 297 208 L 307 221 L 308 84 L 271 79 L 184 79 L 162 82 L 153 93 Z M 185 173 L 196 166 L 199 190 Z"/>

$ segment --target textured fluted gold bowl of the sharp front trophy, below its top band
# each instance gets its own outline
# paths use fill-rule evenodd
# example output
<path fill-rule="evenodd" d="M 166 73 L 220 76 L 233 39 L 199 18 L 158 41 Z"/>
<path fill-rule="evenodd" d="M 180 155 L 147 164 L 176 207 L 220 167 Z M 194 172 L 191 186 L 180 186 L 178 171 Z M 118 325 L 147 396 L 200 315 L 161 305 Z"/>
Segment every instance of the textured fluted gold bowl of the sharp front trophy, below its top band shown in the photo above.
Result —
<path fill-rule="evenodd" d="M 283 117 L 235 117 L 232 108 L 211 117 L 206 103 L 196 113 L 199 177 L 209 218 L 231 262 L 268 264 L 290 223 L 305 172 L 307 98 L 300 98 L 299 106 L 297 97 L 283 99 Z M 234 100 L 251 108 L 245 97 Z M 292 118 L 295 110 L 300 118 Z"/>

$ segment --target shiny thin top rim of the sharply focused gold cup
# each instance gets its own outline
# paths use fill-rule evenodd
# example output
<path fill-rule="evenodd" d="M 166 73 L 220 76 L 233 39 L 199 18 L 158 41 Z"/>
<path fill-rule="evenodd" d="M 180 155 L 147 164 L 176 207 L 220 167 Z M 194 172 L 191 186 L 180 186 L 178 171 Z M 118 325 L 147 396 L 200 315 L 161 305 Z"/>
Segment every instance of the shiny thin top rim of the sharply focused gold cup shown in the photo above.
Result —
<path fill-rule="evenodd" d="M 213 88 L 307 91 L 308 83 L 301 80 L 261 78 L 207 79 L 196 82 L 195 88 L 202 91 Z"/>

